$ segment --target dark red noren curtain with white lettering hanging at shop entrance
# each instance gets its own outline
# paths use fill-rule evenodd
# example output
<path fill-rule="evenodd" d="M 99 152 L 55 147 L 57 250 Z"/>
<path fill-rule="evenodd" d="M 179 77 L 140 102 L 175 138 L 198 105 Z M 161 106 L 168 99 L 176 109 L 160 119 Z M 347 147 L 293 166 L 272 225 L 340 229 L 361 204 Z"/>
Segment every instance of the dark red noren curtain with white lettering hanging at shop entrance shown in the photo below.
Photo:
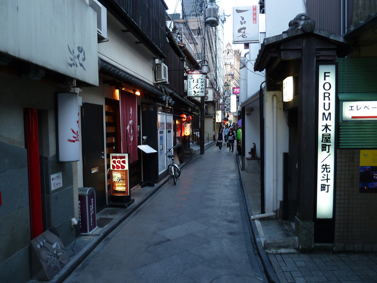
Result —
<path fill-rule="evenodd" d="M 119 90 L 122 153 L 130 154 L 130 163 L 138 160 L 138 103 L 136 95 Z"/>

